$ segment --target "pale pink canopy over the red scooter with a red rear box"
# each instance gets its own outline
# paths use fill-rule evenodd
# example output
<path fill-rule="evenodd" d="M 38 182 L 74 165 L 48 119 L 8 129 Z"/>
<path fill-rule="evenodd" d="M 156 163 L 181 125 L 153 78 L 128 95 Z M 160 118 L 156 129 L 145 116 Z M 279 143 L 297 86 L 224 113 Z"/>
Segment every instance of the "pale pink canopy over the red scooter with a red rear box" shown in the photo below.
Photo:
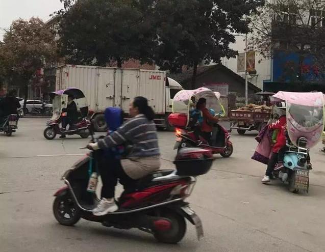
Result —
<path fill-rule="evenodd" d="M 213 108 L 217 112 L 221 109 L 219 97 L 219 92 L 213 92 L 207 88 L 181 90 L 173 98 L 173 113 L 188 114 L 190 106 L 194 106 L 199 98 L 206 98 L 207 108 Z"/>

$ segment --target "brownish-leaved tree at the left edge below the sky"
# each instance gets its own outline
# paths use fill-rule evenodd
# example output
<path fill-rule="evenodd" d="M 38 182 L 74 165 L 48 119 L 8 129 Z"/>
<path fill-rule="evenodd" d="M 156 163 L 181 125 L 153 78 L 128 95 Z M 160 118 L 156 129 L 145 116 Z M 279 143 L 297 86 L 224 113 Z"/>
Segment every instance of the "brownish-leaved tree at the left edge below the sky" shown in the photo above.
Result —
<path fill-rule="evenodd" d="M 56 61 L 56 48 L 55 34 L 44 29 L 41 19 L 15 20 L 0 43 L 0 76 L 27 90 L 36 70 Z"/>

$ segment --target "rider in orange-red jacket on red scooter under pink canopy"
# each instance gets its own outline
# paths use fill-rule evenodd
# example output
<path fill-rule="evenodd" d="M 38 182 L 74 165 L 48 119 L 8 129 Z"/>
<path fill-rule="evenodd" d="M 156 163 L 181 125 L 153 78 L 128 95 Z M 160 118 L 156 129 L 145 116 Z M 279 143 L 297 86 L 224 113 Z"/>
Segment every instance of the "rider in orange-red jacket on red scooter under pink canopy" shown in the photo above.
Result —
<path fill-rule="evenodd" d="M 195 134 L 202 135 L 202 137 L 209 142 L 211 138 L 211 132 L 213 129 L 211 123 L 218 123 L 219 120 L 218 118 L 211 115 L 206 105 L 207 105 L 207 100 L 205 98 L 199 98 L 196 103 L 196 109 L 202 111 L 203 122 L 201 124 L 201 127 L 196 127 Z"/>

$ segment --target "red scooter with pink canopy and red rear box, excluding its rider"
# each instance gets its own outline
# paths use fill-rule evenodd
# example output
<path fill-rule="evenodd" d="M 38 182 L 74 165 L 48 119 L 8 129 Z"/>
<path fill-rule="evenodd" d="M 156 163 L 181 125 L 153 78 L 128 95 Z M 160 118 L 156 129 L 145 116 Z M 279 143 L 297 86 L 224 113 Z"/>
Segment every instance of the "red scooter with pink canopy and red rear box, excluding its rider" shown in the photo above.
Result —
<path fill-rule="evenodd" d="M 213 154 L 230 157 L 233 154 L 234 148 L 230 141 L 230 133 L 226 128 L 217 123 L 213 124 L 209 142 L 202 136 L 199 136 L 199 139 L 197 139 L 194 134 L 194 128 L 198 127 L 198 122 L 190 114 L 195 107 L 195 102 L 202 97 L 206 98 L 207 107 L 210 108 L 210 113 L 213 116 L 223 117 L 226 114 L 219 101 L 220 93 L 218 92 L 212 92 L 207 88 L 178 92 L 173 98 L 173 113 L 168 117 L 168 123 L 176 127 L 175 134 L 177 138 L 174 149 L 179 151 L 185 147 L 202 147 L 211 150 Z M 218 110 L 220 112 L 215 114 L 215 111 Z"/>

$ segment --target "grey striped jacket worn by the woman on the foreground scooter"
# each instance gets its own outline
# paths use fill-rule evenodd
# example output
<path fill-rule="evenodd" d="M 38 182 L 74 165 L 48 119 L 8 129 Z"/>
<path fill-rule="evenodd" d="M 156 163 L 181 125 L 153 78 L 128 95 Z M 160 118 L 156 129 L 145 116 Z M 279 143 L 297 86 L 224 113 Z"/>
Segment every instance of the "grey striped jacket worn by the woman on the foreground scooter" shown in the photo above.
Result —
<path fill-rule="evenodd" d="M 133 145 L 129 157 L 160 155 L 156 125 L 142 114 L 129 119 L 116 131 L 99 140 L 98 147 L 111 148 L 125 142 L 131 142 Z"/>

